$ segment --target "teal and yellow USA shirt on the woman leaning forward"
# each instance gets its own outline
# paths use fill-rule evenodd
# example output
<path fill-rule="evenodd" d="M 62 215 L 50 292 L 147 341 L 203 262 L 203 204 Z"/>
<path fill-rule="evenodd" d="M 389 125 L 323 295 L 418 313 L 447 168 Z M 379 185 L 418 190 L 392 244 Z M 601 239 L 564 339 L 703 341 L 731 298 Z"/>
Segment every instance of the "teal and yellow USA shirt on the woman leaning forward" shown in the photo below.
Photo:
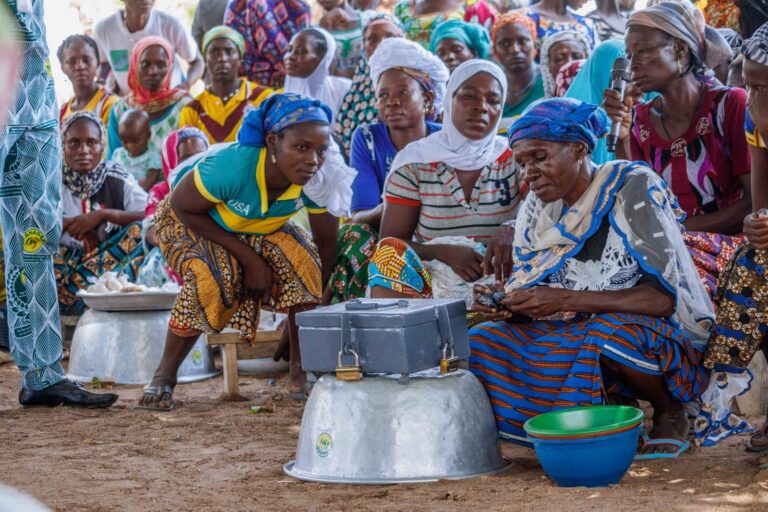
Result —
<path fill-rule="evenodd" d="M 264 148 L 233 143 L 204 153 L 179 172 L 176 183 L 189 171 L 197 190 L 215 206 L 210 215 L 233 233 L 268 235 L 291 216 L 307 207 L 309 213 L 324 213 L 299 185 L 291 185 L 272 204 L 267 199 Z"/>

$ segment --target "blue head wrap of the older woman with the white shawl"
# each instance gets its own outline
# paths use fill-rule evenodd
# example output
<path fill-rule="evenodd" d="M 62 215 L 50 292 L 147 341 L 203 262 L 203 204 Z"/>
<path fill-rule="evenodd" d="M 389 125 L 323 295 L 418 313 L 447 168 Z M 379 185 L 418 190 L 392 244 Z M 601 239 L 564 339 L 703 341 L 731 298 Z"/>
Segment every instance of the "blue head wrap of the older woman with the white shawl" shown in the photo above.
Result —
<path fill-rule="evenodd" d="M 572 98 L 550 98 L 532 103 L 509 127 L 509 145 L 518 140 L 584 142 L 595 149 L 610 127 L 605 110 Z"/>

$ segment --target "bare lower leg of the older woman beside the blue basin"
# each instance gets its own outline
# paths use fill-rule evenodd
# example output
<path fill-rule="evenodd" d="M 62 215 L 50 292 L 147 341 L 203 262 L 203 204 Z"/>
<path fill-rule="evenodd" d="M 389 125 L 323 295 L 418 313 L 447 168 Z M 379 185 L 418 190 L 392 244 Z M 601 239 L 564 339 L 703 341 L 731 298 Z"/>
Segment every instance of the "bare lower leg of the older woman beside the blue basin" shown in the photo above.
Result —
<path fill-rule="evenodd" d="M 669 387 L 662 375 L 652 375 L 625 366 L 608 357 L 600 357 L 600 367 L 604 376 L 620 382 L 641 400 L 653 406 L 653 439 L 677 439 L 684 441 L 690 427 L 683 410 L 683 404 L 669 392 Z M 654 452 L 674 453 L 673 445 L 653 447 Z"/>

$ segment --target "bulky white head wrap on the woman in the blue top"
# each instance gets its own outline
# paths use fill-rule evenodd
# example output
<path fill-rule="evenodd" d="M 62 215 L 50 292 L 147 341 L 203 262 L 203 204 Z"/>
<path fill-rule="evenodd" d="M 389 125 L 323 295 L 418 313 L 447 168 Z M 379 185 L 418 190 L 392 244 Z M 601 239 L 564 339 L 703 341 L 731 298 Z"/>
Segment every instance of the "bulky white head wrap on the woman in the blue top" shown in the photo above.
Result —
<path fill-rule="evenodd" d="M 414 43 L 402 37 L 390 37 L 382 41 L 368 60 L 371 68 L 373 87 L 379 84 L 379 78 L 385 71 L 394 68 L 408 68 L 429 76 L 434 86 L 435 113 L 439 114 L 443 106 L 445 83 L 448 81 L 448 68 L 443 61 Z"/>

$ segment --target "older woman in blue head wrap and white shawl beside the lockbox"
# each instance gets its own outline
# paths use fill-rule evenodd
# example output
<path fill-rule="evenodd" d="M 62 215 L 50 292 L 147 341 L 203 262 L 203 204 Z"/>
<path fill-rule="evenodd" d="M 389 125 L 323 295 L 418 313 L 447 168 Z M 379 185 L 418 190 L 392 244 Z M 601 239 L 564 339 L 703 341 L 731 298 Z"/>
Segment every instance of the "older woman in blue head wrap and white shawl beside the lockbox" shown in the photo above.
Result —
<path fill-rule="evenodd" d="M 590 160 L 608 127 L 600 107 L 566 98 L 511 126 L 530 192 L 511 277 L 475 287 L 490 321 L 470 331 L 470 368 L 503 438 L 527 442 L 525 421 L 553 409 L 639 398 L 654 414 L 638 457 L 675 457 L 689 447 L 683 403 L 707 384 L 714 315 L 669 187 L 641 163 Z"/>

